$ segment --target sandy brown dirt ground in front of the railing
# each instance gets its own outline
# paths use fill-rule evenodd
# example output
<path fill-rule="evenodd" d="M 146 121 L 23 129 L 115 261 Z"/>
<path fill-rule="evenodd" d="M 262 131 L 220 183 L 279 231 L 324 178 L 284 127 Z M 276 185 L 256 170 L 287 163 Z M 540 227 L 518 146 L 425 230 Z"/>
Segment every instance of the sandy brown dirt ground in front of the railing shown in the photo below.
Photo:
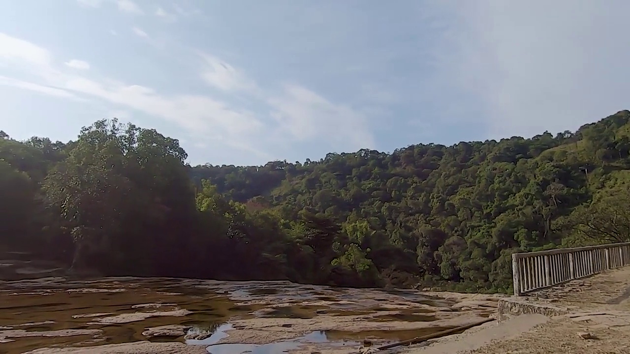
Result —
<path fill-rule="evenodd" d="M 404 354 L 630 354 L 630 267 L 532 295 L 532 301 L 571 307 L 568 315 L 532 315 L 473 329 Z M 540 315 L 534 315 L 540 316 Z M 585 333 L 594 338 L 584 339 Z"/>

